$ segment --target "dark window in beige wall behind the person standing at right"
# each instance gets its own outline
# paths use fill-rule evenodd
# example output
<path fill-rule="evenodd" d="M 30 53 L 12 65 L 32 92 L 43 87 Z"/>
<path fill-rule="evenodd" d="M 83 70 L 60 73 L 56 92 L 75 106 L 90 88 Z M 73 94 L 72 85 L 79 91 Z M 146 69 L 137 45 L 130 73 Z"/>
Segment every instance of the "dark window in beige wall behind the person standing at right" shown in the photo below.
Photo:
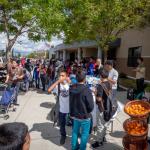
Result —
<path fill-rule="evenodd" d="M 131 47 L 128 50 L 128 67 L 137 66 L 137 58 L 141 57 L 142 47 Z"/>

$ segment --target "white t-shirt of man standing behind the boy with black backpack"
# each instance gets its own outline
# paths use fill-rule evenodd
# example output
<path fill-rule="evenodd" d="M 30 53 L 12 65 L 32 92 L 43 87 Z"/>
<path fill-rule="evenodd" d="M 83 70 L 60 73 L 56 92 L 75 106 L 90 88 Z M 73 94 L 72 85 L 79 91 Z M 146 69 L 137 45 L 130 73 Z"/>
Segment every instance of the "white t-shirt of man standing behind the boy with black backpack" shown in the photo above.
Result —
<path fill-rule="evenodd" d="M 109 78 L 111 78 L 113 81 L 117 81 L 118 80 L 118 71 L 115 70 L 114 68 L 112 68 L 110 71 L 109 71 Z M 117 82 L 116 84 L 112 84 L 112 89 L 117 89 Z"/>

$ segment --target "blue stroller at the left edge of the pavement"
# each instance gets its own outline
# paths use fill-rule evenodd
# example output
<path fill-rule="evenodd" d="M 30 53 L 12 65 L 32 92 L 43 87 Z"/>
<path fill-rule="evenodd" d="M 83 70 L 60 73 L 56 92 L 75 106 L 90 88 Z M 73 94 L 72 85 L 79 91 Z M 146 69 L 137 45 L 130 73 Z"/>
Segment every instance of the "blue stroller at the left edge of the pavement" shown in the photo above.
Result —
<path fill-rule="evenodd" d="M 10 108 L 12 111 L 16 111 L 16 108 L 13 105 L 13 102 L 16 98 L 17 89 L 16 87 L 10 87 L 9 85 L 0 86 L 0 117 L 7 120 L 9 118 L 8 112 Z"/>

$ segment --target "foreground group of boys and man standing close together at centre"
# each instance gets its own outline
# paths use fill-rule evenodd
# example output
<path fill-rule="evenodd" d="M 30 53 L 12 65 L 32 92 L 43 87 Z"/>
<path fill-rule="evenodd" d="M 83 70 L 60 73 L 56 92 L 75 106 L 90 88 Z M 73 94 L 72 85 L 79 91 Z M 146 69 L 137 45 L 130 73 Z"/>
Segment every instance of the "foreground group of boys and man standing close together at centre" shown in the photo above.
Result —
<path fill-rule="evenodd" d="M 103 68 L 100 59 L 97 59 L 97 64 L 99 64 L 97 70 L 94 70 L 94 67 L 91 69 L 92 65 L 90 64 L 88 69 L 91 70 L 88 71 L 87 69 L 87 72 L 85 72 L 85 68 L 82 69 L 81 66 L 78 68 L 76 68 L 77 66 L 75 65 L 71 66 L 73 68 L 70 70 L 70 76 L 74 74 L 76 79 L 75 83 L 68 76 L 69 69 L 67 66 L 66 70 L 62 70 L 60 72 L 59 79 L 48 89 L 49 93 L 54 90 L 59 96 L 59 125 L 61 145 L 63 145 L 66 140 L 65 125 L 68 113 L 73 120 L 71 142 L 72 150 L 86 149 L 90 129 L 92 127 L 91 113 L 94 109 L 94 96 L 96 97 L 97 104 L 97 140 L 91 145 L 93 148 L 103 145 L 103 142 L 106 141 L 106 128 L 109 124 L 109 120 L 116 112 L 118 107 L 116 100 L 118 72 L 113 68 L 112 61 L 106 61 Z M 74 70 L 76 70 L 76 73 Z M 91 90 L 86 85 L 86 75 L 94 75 L 94 71 L 96 72 L 96 76 L 100 77 L 100 81 L 97 87 Z M 110 95 L 111 98 L 108 99 Z M 108 103 L 111 106 L 108 106 Z M 107 112 L 108 107 L 111 107 L 109 112 Z M 81 139 L 80 144 L 78 143 L 78 138 Z"/>

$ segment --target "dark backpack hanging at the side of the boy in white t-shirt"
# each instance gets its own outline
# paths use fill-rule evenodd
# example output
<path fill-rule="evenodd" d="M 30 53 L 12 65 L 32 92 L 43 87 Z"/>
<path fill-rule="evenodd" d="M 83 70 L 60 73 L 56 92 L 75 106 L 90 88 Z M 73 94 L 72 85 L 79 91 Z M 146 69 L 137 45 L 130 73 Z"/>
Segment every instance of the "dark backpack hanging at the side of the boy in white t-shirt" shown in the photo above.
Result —
<path fill-rule="evenodd" d="M 60 96 L 60 84 L 58 84 L 58 95 L 57 95 L 57 99 L 56 99 L 56 104 L 53 106 L 53 108 L 50 111 L 50 121 L 53 122 L 53 126 L 55 126 L 55 124 L 59 124 L 59 96 Z"/>

